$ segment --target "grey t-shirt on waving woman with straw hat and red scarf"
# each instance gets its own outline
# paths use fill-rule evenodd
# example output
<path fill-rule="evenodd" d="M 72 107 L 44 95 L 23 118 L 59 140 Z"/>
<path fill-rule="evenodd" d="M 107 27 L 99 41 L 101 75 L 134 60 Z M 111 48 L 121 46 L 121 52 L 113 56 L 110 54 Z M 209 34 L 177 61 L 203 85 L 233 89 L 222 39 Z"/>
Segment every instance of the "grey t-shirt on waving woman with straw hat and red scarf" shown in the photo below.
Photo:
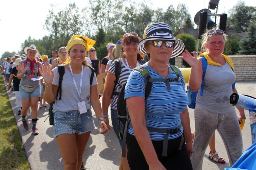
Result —
<path fill-rule="evenodd" d="M 20 63 L 24 63 L 25 60 L 20 61 Z M 38 67 L 41 65 L 39 62 L 34 62 L 34 70 L 31 72 L 30 70 L 30 62 L 26 60 L 26 72 L 24 73 L 22 79 L 20 80 L 19 86 L 22 85 L 30 85 L 34 87 L 40 86 L 40 81 L 33 81 L 31 78 L 38 77 Z"/>

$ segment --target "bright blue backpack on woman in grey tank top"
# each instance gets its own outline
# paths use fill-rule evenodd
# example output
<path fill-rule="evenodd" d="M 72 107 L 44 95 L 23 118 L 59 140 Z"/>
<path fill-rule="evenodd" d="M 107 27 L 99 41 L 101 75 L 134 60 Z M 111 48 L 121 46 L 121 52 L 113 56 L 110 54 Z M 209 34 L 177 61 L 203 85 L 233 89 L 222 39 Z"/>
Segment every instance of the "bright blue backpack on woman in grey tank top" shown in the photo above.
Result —
<path fill-rule="evenodd" d="M 207 63 L 207 60 L 204 56 L 201 56 L 199 58 L 201 58 L 202 66 L 203 66 L 203 78 L 202 78 L 202 85 L 201 85 L 201 90 L 200 90 L 200 95 L 203 96 L 204 75 L 205 75 L 208 63 Z M 188 87 L 188 90 L 187 90 L 188 107 L 189 108 L 195 108 L 196 107 L 196 98 L 197 98 L 198 90 L 193 92 L 189 88 L 189 86 L 187 86 L 187 87 Z"/>

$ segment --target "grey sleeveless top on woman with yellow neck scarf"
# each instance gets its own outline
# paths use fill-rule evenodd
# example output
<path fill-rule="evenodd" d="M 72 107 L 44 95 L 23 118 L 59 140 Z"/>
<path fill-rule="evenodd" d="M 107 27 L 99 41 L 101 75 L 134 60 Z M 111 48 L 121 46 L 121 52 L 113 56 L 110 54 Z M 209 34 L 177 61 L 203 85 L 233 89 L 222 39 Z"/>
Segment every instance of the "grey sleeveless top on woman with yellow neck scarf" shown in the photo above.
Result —
<path fill-rule="evenodd" d="M 196 104 L 203 109 L 216 114 L 230 113 L 234 106 L 229 104 L 232 84 L 236 81 L 236 74 L 226 62 L 223 66 L 208 64 L 204 76 L 203 96 L 200 89 L 197 93 Z"/>

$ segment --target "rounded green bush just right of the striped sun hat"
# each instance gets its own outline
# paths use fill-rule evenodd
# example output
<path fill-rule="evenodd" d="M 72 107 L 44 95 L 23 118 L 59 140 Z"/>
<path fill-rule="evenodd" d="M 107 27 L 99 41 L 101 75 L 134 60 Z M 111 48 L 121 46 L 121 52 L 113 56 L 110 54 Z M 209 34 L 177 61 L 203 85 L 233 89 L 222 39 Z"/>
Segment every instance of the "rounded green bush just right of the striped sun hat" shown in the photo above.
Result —
<path fill-rule="evenodd" d="M 196 51 L 197 41 L 195 40 L 193 35 L 190 35 L 190 34 L 179 34 L 179 35 L 176 36 L 176 38 L 182 40 L 185 43 L 186 49 L 189 52 Z"/>

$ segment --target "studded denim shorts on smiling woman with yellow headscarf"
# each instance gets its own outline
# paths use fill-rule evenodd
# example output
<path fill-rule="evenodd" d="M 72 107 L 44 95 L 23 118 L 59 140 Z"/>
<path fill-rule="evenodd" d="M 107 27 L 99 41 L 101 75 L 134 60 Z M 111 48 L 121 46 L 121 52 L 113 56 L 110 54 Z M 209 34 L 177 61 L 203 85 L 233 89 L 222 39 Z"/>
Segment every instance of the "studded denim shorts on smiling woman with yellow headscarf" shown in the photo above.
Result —
<path fill-rule="evenodd" d="M 80 114 L 79 111 L 54 112 L 54 137 L 61 134 L 85 132 L 96 129 L 91 109 L 87 113 Z"/>

